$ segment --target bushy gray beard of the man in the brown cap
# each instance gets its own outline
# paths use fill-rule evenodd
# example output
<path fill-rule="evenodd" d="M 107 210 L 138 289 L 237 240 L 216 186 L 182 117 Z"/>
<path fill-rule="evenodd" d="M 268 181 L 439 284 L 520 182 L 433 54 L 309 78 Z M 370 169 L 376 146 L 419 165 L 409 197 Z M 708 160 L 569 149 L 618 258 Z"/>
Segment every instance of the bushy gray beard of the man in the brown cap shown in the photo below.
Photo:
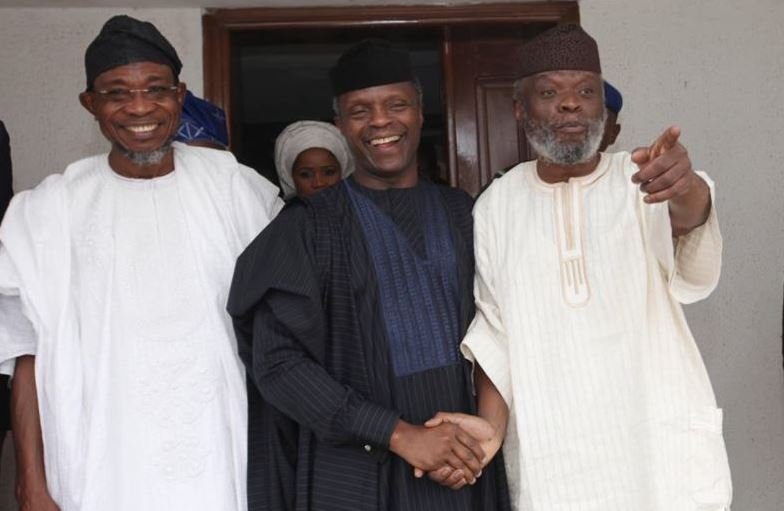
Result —
<path fill-rule="evenodd" d="M 526 116 L 527 118 L 527 116 Z M 599 151 L 604 136 L 607 112 L 586 121 L 587 130 L 582 142 L 559 142 L 552 123 L 526 120 L 525 137 L 540 159 L 557 165 L 577 165 L 593 158 Z"/>

